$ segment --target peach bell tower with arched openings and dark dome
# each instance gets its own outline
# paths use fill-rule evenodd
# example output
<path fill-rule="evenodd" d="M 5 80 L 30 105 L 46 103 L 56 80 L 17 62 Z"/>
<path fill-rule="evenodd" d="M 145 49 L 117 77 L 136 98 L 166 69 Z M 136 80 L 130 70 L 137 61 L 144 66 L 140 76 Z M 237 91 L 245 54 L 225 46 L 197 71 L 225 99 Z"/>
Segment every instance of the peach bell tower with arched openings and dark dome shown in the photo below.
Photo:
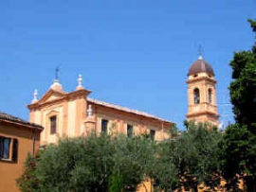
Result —
<path fill-rule="evenodd" d="M 208 122 L 218 126 L 216 82 L 212 67 L 199 55 L 188 73 L 188 121 Z"/>

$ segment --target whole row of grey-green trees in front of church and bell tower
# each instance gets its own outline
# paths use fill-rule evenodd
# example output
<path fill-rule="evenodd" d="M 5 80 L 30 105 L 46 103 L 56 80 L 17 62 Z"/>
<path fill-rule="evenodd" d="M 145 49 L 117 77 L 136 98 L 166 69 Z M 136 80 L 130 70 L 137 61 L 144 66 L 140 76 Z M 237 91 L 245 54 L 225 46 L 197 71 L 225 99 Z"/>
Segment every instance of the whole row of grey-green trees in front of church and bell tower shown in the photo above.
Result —
<path fill-rule="evenodd" d="M 148 135 L 91 134 L 60 140 L 57 146 L 46 147 L 36 164 L 26 164 L 20 185 L 29 190 L 21 190 L 135 192 L 147 179 L 154 181 L 155 191 L 174 191 L 181 185 L 194 187 L 198 183 L 213 187 L 218 181 L 219 139 L 220 133 L 208 131 L 206 125 L 189 124 L 188 131 L 161 143 Z M 28 157 L 27 162 L 31 161 L 34 159 Z M 24 179 L 27 173 L 33 180 Z"/>

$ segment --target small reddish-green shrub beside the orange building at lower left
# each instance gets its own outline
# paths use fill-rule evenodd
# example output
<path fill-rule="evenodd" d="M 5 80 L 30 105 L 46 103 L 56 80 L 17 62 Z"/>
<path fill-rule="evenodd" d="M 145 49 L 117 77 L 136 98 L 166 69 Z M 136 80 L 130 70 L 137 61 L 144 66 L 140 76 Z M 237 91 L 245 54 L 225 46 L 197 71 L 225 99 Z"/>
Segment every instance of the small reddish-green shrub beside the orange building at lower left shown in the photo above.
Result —
<path fill-rule="evenodd" d="M 39 181 L 35 175 L 38 159 L 30 153 L 27 154 L 25 170 L 20 178 L 16 180 L 17 186 L 22 192 L 36 192 L 39 188 Z"/>

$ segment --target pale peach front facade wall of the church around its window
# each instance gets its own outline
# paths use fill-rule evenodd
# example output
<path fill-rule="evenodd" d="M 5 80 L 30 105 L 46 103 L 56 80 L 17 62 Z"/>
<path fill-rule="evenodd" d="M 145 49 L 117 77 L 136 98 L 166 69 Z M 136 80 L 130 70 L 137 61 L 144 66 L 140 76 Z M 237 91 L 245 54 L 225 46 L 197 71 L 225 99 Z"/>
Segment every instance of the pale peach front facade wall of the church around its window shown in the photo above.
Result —
<path fill-rule="evenodd" d="M 56 99 L 56 97 L 54 97 Z M 46 100 L 48 102 L 48 99 Z M 42 104 L 42 103 L 41 103 Z M 41 145 L 57 143 L 64 136 L 81 136 L 86 115 L 86 100 L 84 96 L 73 99 L 62 99 L 43 105 L 38 110 L 31 110 L 30 121 L 45 127 L 41 134 Z M 50 134 L 49 117 L 57 115 L 57 130 Z"/>

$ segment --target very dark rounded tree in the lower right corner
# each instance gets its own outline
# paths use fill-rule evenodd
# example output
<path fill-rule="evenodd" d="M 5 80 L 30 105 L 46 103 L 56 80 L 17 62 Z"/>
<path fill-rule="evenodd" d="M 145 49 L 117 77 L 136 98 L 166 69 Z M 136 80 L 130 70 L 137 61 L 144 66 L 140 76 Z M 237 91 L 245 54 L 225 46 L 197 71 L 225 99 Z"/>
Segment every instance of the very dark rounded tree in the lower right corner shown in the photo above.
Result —
<path fill-rule="evenodd" d="M 247 187 L 251 187 L 250 183 L 254 183 L 256 178 L 256 135 L 248 131 L 246 126 L 231 125 L 225 131 L 220 146 L 227 188 L 237 191 L 241 179 L 247 183 Z"/>

